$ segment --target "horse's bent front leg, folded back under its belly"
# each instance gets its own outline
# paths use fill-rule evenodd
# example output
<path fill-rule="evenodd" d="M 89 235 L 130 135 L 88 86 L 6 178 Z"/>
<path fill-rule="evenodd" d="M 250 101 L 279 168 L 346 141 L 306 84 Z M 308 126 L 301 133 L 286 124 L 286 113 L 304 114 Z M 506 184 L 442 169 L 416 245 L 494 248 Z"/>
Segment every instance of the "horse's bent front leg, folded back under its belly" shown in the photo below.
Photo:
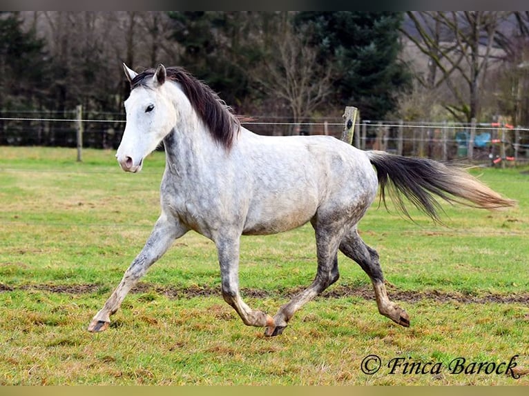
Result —
<path fill-rule="evenodd" d="M 239 293 L 239 244 L 240 236 L 231 239 L 222 238 L 215 241 L 220 264 L 222 297 L 247 326 L 273 326 L 273 318 L 267 313 L 252 310 L 247 306 Z"/>

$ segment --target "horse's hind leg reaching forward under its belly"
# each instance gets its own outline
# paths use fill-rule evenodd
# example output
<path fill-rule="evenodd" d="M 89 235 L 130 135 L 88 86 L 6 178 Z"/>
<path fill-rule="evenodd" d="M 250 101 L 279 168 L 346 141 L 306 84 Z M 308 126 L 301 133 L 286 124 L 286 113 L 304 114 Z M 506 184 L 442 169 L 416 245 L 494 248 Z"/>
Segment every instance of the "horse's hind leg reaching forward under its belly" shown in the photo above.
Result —
<path fill-rule="evenodd" d="M 334 284 L 340 276 L 338 273 L 337 253 L 341 235 L 318 226 L 315 226 L 315 230 L 318 254 L 318 272 L 316 277 L 308 288 L 294 296 L 287 304 L 281 306 L 276 316 L 273 317 L 273 326 L 267 326 L 264 331 L 264 335 L 268 337 L 280 335 L 287 327 L 291 317 L 296 313 L 296 310 L 322 293 L 331 284 Z"/>

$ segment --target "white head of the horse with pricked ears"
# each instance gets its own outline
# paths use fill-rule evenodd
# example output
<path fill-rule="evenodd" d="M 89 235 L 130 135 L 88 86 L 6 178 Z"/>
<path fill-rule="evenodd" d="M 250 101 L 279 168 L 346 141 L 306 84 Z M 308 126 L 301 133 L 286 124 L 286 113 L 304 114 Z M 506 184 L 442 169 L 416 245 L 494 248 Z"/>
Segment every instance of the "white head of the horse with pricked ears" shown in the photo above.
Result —
<path fill-rule="evenodd" d="M 154 75 L 143 79 L 125 64 L 123 68 L 131 83 L 131 95 L 125 101 L 126 126 L 116 158 L 123 170 L 139 172 L 143 159 L 175 126 L 176 112 L 166 92 L 166 69 L 162 64 Z"/>

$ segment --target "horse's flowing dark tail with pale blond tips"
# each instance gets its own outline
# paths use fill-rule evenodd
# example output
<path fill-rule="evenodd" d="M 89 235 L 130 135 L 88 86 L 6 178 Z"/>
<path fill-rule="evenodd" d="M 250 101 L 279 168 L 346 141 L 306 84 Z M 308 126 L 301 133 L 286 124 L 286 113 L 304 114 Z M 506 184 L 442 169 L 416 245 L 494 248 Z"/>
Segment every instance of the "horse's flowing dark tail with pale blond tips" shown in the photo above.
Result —
<path fill-rule="evenodd" d="M 516 201 L 501 197 L 461 168 L 445 166 L 432 159 L 407 158 L 383 151 L 368 151 L 367 157 L 378 175 L 381 200 L 385 204 L 385 189 L 389 188 L 394 192 L 392 196 L 397 208 L 407 217 L 410 214 L 402 196 L 439 222 L 441 205 L 434 195 L 450 203 L 489 210 L 516 205 Z"/>

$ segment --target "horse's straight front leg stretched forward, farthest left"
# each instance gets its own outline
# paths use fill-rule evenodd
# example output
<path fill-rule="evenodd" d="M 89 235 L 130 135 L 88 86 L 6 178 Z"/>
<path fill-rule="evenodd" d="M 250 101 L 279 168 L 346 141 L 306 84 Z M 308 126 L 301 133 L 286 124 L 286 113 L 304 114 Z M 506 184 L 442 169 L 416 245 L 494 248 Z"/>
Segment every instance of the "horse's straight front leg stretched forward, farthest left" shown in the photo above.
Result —
<path fill-rule="evenodd" d="M 177 219 L 173 217 L 168 218 L 162 212 L 144 248 L 134 259 L 131 266 L 125 271 L 122 281 L 108 300 L 106 300 L 102 310 L 93 317 L 93 320 L 88 326 L 88 331 L 97 333 L 108 328 L 110 325 L 110 315 L 116 313 L 129 290 L 135 286 L 137 281 L 146 273 L 147 269 L 164 255 L 171 244 L 173 244 L 173 241 L 182 237 L 186 232 L 187 228 L 182 226 Z"/>

